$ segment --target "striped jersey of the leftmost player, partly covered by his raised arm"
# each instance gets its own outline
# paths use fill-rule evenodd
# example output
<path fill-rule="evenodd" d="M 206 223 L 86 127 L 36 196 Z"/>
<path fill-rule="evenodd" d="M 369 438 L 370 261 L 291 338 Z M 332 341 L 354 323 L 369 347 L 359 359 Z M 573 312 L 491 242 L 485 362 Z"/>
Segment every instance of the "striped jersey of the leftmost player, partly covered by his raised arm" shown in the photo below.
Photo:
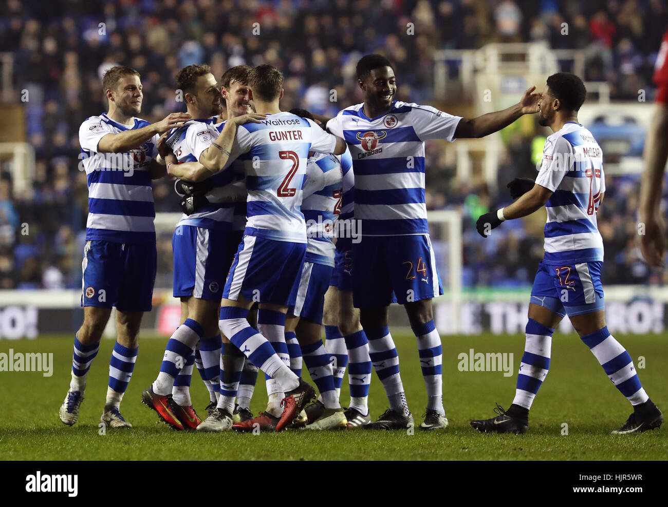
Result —
<path fill-rule="evenodd" d="M 125 153 L 98 153 L 100 139 L 109 133 L 140 129 L 148 121 L 134 118 L 134 125 L 122 125 L 102 113 L 79 127 L 83 169 L 88 177 L 88 221 L 86 239 L 114 243 L 155 243 L 156 216 L 150 161 L 158 156 L 160 135 Z"/>

